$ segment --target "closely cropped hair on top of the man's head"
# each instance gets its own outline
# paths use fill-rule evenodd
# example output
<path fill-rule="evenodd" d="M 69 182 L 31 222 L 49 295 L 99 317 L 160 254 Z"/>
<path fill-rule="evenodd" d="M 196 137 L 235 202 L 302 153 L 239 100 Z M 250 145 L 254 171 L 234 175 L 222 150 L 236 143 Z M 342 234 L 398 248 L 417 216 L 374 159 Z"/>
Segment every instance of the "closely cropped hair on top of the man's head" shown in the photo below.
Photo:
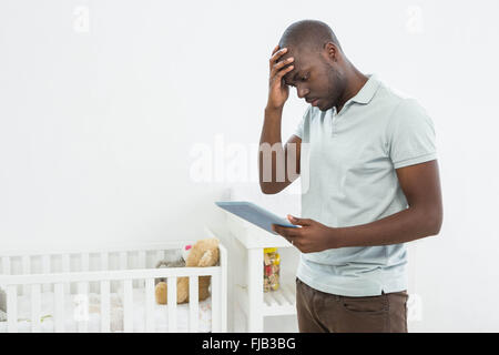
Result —
<path fill-rule="evenodd" d="M 292 23 L 279 40 L 279 48 L 288 48 L 294 52 L 320 52 L 328 42 L 339 42 L 329 26 L 317 20 L 302 20 Z"/>

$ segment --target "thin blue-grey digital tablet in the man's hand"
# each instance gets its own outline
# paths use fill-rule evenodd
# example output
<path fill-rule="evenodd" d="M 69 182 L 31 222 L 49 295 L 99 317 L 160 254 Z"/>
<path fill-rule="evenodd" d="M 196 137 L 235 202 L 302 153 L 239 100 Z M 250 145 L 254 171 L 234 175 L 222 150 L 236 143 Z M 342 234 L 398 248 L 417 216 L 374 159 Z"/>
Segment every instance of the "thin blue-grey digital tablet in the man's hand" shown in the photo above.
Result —
<path fill-rule="evenodd" d="M 215 202 L 215 204 L 240 217 L 251 222 L 261 229 L 271 232 L 272 234 L 278 235 L 272 230 L 272 224 L 277 224 L 282 226 L 287 226 L 292 229 L 298 227 L 297 225 L 291 224 L 286 219 L 279 217 L 278 215 L 268 212 L 261 206 L 252 202 L 246 201 L 226 201 L 226 202 Z"/>

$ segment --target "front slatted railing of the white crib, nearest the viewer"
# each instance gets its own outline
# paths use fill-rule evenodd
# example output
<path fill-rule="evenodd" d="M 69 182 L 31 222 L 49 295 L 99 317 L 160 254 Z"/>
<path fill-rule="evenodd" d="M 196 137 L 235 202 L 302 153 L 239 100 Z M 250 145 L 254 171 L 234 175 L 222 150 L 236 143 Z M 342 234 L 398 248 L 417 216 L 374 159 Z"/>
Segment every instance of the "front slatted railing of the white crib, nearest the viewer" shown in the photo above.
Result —
<path fill-rule="evenodd" d="M 64 332 L 64 293 L 63 285 L 68 283 L 78 284 L 78 294 L 85 295 L 90 282 L 100 283 L 101 296 L 101 332 L 110 332 L 110 283 L 112 281 L 123 282 L 123 331 L 133 332 L 133 285 L 132 281 L 145 281 L 145 331 L 154 331 L 154 278 L 166 277 L 167 280 L 167 310 L 169 310 L 169 332 L 176 332 L 176 278 L 189 277 L 189 307 L 190 307 L 190 332 L 198 329 L 198 276 L 212 276 L 212 331 L 222 332 L 222 294 L 220 282 L 222 268 L 214 267 L 173 267 L 156 270 L 119 270 L 112 272 L 79 272 L 79 273 L 57 273 L 57 274 L 37 274 L 37 275 L 14 275 L 0 276 L 0 284 L 7 291 L 7 317 L 8 331 L 18 331 L 18 285 L 29 286 L 31 288 L 31 326 L 32 332 L 40 332 L 41 318 L 41 285 L 54 285 L 54 331 Z M 88 331 L 88 323 L 81 321 L 78 323 L 79 332 Z"/>

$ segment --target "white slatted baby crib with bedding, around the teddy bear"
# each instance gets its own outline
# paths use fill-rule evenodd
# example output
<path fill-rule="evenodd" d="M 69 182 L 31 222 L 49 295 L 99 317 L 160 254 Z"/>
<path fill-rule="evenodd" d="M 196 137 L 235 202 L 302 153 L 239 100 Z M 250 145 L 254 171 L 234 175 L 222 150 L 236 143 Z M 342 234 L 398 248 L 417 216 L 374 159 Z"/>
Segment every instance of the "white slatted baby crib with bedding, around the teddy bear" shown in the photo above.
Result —
<path fill-rule="evenodd" d="M 206 233 L 205 237 L 213 236 L 208 230 Z M 6 325 L 3 332 L 226 332 L 227 252 L 222 243 L 217 266 L 155 268 L 165 251 L 189 243 L 193 241 L 57 252 L 0 251 L 0 288 L 7 298 L 7 321 L 0 325 Z M 189 277 L 190 302 L 177 305 L 176 277 L 181 276 Z M 197 295 L 198 276 L 211 276 L 211 296 L 202 302 Z M 166 305 L 155 302 L 154 280 L 159 277 L 167 278 Z M 81 302 L 88 301 L 89 295 L 99 301 L 92 320 L 88 316 L 88 302 Z M 30 305 L 30 318 L 24 323 L 18 317 L 21 300 Z M 68 308 L 68 304 L 78 300 L 80 304 Z M 53 305 L 53 314 L 42 314 L 42 301 L 43 307 L 45 303 Z M 112 306 L 115 303 L 121 307 Z M 206 318 L 201 317 L 202 308 L 211 313 L 211 326 L 204 328 L 200 327 L 200 322 Z M 73 314 L 67 314 L 70 312 Z M 111 317 L 115 314 L 122 316 L 122 327 L 113 329 Z M 20 328 L 27 322 L 30 329 Z M 42 322 L 49 322 L 45 323 L 50 324 L 49 329 Z M 166 324 L 156 326 L 161 322 Z M 89 325 L 92 325 L 90 329 Z"/>

